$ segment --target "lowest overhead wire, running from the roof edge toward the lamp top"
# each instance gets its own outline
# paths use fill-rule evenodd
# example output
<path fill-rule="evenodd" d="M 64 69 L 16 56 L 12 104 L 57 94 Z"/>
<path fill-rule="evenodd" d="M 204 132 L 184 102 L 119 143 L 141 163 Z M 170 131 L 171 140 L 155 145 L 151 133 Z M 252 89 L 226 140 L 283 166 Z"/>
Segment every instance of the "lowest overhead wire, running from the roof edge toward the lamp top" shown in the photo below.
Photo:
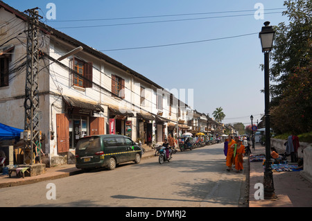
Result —
<path fill-rule="evenodd" d="M 158 47 L 166 47 L 166 46 L 175 46 L 175 45 L 181 45 L 181 44 L 195 44 L 195 43 L 200 43 L 200 42 L 211 42 L 211 41 L 216 41 L 216 40 L 221 40 L 221 39 L 231 39 L 235 37 L 243 37 L 243 36 L 248 36 L 248 35 L 258 35 L 259 33 L 249 33 L 249 34 L 243 34 L 243 35 L 234 35 L 234 36 L 229 36 L 229 37 L 218 37 L 218 38 L 213 38 L 213 39 L 204 39 L 204 40 L 199 40 L 199 41 L 193 41 L 193 42 L 180 42 L 180 43 L 173 43 L 173 44 L 159 44 L 159 45 L 154 45 L 154 46 L 141 46 L 141 47 L 133 47 L 133 48 L 115 48 L 115 49 L 107 49 L 107 50 L 100 50 L 101 52 L 103 51 L 124 51 L 124 50 L 133 50 L 133 49 L 144 49 L 144 48 L 158 48 Z"/>

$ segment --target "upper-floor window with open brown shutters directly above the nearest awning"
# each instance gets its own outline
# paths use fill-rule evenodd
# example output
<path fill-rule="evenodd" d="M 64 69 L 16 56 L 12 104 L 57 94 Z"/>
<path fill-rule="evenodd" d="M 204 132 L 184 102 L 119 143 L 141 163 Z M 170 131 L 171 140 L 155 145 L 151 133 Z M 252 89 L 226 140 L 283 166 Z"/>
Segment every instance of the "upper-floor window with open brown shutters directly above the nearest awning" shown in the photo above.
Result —
<path fill-rule="evenodd" d="M 73 85 L 78 87 L 92 87 L 92 62 L 84 62 L 73 58 Z"/>

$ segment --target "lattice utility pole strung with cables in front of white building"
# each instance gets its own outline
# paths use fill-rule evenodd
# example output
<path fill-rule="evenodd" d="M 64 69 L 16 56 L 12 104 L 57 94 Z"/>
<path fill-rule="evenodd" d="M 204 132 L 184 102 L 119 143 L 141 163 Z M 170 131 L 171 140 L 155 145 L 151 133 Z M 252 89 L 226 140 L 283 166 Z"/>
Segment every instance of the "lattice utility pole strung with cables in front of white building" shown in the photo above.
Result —
<path fill-rule="evenodd" d="M 28 131 L 28 139 L 26 139 L 26 148 L 30 149 L 28 157 L 33 164 L 33 151 L 37 145 L 40 145 L 40 112 L 39 112 L 39 88 L 38 88 L 38 25 L 39 18 L 38 8 L 28 9 L 28 31 L 26 33 L 27 46 L 26 46 L 26 82 L 25 82 L 25 127 L 24 130 Z M 31 156 L 29 156 L 29 154 Z M 40 157 L 40 154 L 39 154 Z M 24 164 L 26 159 L 26 151 L 24 150 Z"/>

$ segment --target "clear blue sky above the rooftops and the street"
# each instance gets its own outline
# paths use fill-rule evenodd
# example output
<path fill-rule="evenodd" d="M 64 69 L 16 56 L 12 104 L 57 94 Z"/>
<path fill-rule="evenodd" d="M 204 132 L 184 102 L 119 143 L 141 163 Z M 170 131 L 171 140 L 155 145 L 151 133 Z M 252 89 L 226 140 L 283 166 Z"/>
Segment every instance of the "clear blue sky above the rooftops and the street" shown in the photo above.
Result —
<path fill-rule="evenodd" d="M 193 107 L 198 112 L 209 113 L 212 116 L 216 107 L 223 107 L 226 115 L 224 123 L 241 122 L 245 125 L 250 122 L 251 114 L 257 122 L 260 121 L 260 114 L 264 113 L 264 94 L 260 92 L 264 87 L 264 73 L 259 69 L 259 65 L 263 63 L 263 53 L 257 33 L 261 31 L 264 21 L 270 21 L 271 25 L 288 21 L 287 17 L 281 15 L 283 9 L 271 10 L 284 8 L 284 0 L 5 2 L 20 11 L 39 7 L 40 15 L 44 16 L 49 11 L 46 4 L 55 3 L 56 19 L 42 20 L 49 26 L 103 51 L 166 89 L 193 89 Z M 254 17 L 256 3 L 263 5 L 264 19 Z M 268 12 L 280 13 L 266 14 Z M 159 15 L 171 16 L 149 17 Z M 240 16 L 225 17 L 231 15 Z M 68 21 L 129 17 L 145 18 Z M 184 21 L 168 21 L 174 19 Z M 103 26 L 147 21 L 162 22 Z M 73 26 L 101 27 L 68 28 Z M 256 34 L 233 37 L 251 33 Z M 105 51 L 223 37 L 233 38 L 175 46 Z"/>

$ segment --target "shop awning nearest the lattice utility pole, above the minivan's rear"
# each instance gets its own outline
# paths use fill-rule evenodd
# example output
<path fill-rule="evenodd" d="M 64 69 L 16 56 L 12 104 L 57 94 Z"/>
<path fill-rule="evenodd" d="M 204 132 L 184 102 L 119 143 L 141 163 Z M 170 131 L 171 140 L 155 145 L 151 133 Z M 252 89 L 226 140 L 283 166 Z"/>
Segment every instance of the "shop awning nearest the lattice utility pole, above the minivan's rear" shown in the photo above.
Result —
<path fill-rule="evenodd" d="M 78 109 L 85 109 L 87 111 L 94 111 L 94 112 L 104 112 L 103 107 L 95 102 L 89 102 L 87 100 L 81 100 L 78 98 L 72 98 L 69 96 L 63 96 L 64 103 L 71 108 L 78 108 Z"/>

